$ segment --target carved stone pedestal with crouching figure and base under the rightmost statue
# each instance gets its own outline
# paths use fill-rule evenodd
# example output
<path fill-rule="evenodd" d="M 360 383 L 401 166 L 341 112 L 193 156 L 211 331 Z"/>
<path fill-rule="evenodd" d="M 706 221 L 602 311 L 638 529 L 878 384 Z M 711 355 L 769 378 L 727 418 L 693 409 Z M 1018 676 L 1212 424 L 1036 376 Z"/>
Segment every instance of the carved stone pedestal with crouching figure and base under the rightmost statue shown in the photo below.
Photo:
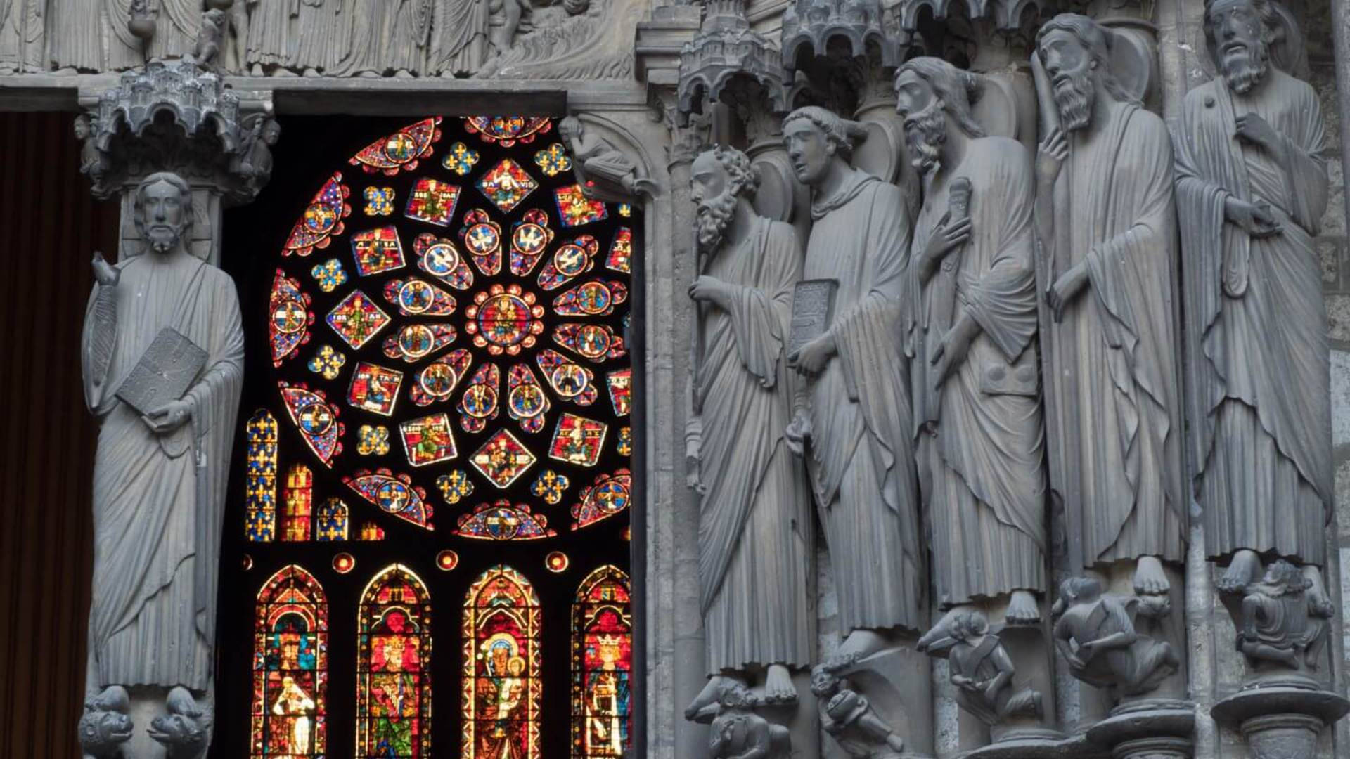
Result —
<path fill-rule="evenodd" d="M 1257 759 L 1308 759 L 1322 731 L 1350 713 L 1350 701 L 1326 687 L 1335 608 L 1314 593 L 1311 570 L 1276 559 L 1261 579 L 1222 596 L 1249 677 L 1211 713 L 1239 731 Z"/>

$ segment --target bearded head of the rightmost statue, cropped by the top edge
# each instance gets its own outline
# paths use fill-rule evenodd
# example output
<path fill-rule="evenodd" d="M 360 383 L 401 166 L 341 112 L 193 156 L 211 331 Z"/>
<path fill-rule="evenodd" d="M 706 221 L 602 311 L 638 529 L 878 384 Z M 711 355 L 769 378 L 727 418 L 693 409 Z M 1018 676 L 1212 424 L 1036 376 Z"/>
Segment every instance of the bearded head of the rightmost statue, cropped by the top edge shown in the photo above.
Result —
<path fill-rule="evenodd" d="M 1228 89 L 1242 95 L 1265 78 L 1278 18 L 1270 0 L 1207 0 L 1204 36 Z"/>

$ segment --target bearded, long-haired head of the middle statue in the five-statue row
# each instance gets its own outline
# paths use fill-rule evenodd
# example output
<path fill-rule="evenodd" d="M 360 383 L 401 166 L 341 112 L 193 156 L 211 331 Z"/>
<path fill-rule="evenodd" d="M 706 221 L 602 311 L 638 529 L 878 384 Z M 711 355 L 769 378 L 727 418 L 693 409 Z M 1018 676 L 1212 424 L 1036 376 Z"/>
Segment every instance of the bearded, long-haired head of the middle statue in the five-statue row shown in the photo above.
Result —
<path fill-rule="evenodd" d="M 984 136 L 971 111 L 977 96 L 975 74 L 941 58 L 914 58 L 895 72 L 895 112 L 905 119 L 905 142 L 915 169 L 930 172 L 938 165 L 949 122 L 967 136 Z"/>

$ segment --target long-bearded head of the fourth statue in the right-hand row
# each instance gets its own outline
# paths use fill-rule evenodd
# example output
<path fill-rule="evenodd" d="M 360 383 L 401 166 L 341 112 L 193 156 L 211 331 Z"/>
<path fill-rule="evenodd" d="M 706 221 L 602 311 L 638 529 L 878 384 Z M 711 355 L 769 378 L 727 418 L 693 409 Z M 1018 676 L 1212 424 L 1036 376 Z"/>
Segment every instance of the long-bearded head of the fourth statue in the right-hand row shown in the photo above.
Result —
<path fill-rule="evenodd" d="M 1110 32 L 1079 14 L 1060 14 L 1037 32 L 1037 55 L 1050 80 L 1060 126 L 1065 131 L 1092 123 L 1092 105 L 1103 92 L 1122 103 L 1134 101 L 1111 73 L 1110 45 Z"/>

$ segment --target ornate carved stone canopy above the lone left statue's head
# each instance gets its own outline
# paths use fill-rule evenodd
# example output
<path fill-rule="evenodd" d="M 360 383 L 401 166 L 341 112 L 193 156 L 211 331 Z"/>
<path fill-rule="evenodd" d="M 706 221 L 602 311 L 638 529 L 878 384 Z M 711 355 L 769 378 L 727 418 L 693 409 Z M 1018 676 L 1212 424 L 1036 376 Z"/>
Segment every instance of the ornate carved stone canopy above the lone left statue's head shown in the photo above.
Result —
<path fill-rule="evenodd" d="M 123 248 L 139 240 L 128 190 L 155 172 L 174 172 L 193 190 L 190 250 L 216 262 L 223 204 L 251 201 L 271 177 L 281 135 L 271 104 L 242 99 L 190 55 L 124 72 L 116 88 L 81 93 L 81 172 L 94 197 L 122 197 Z"/>

